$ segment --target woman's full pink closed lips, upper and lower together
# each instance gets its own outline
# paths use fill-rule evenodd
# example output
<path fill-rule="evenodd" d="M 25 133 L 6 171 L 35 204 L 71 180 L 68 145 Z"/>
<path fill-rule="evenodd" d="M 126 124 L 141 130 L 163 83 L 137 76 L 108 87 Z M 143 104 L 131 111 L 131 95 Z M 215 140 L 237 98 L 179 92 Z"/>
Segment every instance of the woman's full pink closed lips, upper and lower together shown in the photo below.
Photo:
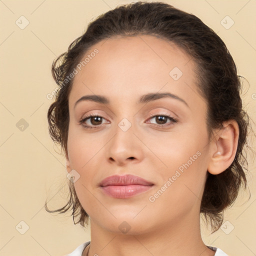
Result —
<path fill-rule="evenodd" d="M 150 189 L 153 183 L 141 177 L 126 174 L 106 177 L 99 185 L 102 191 L 111 197 L 128 198 Z"/>

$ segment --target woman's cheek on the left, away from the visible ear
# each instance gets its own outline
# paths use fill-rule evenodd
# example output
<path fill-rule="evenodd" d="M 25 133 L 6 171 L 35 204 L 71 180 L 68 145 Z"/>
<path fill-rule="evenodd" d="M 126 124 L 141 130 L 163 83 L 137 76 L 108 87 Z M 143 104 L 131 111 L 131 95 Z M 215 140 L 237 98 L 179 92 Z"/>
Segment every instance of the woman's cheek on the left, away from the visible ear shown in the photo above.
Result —
<path fill-rule="evenodd" d="M 101 165 L 99 159 L 102 159 L 102 143 L 99 141 L 98 135 L 86 134 L 80 127 L 69 127 L 67 150 L 70 167 L 79 174 L 73 184 L 78 200 L 89 215 L 95 214 L 94 208 L 100 208 L 93 196 L 96 170 Z"/>

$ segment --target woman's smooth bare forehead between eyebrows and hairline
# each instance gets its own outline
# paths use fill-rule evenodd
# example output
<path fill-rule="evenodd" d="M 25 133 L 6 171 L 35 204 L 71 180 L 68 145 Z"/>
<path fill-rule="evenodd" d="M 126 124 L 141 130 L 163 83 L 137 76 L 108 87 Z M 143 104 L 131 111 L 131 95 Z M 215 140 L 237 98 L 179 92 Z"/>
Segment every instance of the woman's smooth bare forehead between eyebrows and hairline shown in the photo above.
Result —
<path fill-rule="evenodd" d="M 121 95 L 122 101 L 129 102 L 136 101 L 139 94 L 161 89 L 179 95 L 189 93 L 191 88 L 196 90 L 191 57 L 173 42 L 153 35 L 115 36 L 100 41 L 81 61 L 84 63 L 80 70 L 76 68 L 69 95 L 71 104 L 85 94 L 104 94 L 113 100 Z"/>

